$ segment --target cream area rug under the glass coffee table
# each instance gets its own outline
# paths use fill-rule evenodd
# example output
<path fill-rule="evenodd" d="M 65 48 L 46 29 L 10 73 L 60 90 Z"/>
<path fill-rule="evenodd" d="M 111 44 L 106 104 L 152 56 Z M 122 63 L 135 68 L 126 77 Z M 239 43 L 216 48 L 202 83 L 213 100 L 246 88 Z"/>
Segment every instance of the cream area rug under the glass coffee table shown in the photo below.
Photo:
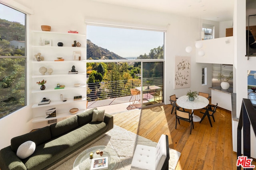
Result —
<path fill-rule="evenodd" d="M 114 170 L 130 170 L 132 157 L 137 144 L 148 145 L 156 147 L 157 143 L 152 142 L 149 139 L 136 135 L 130 131 L 114 125 L 106 135 L 95 140 L 91 145 L 86 145 L 82 149 L 78 150 L 74 154 L 70 155 L 67 159 L 59 162 L 58 164 L 49 168 L 49 170 L 72 170 L 73 163 L 77 156 L 84 151 L 86 148 L 104 145 L 112 147 L 116 150 L 118 154 L 118 160 L 116 161 L 116 166 Z M 169 170 L 175 170 L 178 160 L 180 158 L 180 152 L 170 149 L 170 160 L 169 160 Z"/>

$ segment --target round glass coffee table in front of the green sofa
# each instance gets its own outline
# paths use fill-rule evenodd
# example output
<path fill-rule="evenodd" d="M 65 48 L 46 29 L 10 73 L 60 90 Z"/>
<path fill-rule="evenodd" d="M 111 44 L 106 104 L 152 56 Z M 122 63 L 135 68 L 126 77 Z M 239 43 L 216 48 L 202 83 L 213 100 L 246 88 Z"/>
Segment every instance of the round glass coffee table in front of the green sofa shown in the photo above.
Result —
<path fill-rule="evenodd" d="M 103 155 L 96 154 L 96 150 L 103 151 Z M 73 168 L 74 170 L 90 170 L 92 159 L 90 159 L 90 153 L 93 152 L 93 158 L 108 157 L 108 170 L 112 170 L 116 165 L 117 154 L 116 151 L 107 146 L 96 146 L 84 150 L 76 158 Z"/>

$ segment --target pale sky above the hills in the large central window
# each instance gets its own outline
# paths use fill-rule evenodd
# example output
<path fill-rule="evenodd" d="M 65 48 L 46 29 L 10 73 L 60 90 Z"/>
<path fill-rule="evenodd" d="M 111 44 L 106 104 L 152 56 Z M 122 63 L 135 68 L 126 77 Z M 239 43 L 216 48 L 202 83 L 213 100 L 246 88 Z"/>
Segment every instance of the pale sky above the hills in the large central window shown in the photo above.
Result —
<path fill-rule="evenodd" d="M 87 25 L 87 39 L 121 57 L 148 55 L 151 49 L 164 44 L 164 33 L 138 29 Z"/>

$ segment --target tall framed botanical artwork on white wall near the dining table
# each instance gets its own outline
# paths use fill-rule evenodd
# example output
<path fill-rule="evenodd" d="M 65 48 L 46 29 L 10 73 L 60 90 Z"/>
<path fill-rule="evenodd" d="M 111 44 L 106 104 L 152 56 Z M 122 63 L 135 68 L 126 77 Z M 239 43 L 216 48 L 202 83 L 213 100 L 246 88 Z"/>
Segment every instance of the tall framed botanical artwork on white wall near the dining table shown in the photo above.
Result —
<path fill-rule="evenodd" d="M 175 56 L 174 89 L 190 87 L 190 57 Z"/>

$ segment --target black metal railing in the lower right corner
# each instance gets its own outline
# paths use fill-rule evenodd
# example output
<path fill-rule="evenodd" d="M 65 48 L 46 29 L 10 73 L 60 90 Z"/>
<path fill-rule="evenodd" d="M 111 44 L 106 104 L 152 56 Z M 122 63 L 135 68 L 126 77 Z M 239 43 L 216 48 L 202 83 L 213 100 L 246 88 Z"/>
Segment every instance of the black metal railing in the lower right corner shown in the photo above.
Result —
<path fill-rule="evenodd" d="M 243 128 L 243 156 L 251 156 L 251 138 L 250 138 L 250 125 L 256 136 L 256 111 L 249 99 L 243 99 L 242 108 L 240 111 L 240 117 L 237 127 L 237 158 L 242 156 L 242 128 Z M 242 160 L 240 163 L 242 164 Z M 246 160 L 244 160 L 246 161 Z M 246 164 L 247 162 L 244 162 Z M 246 164 L 247 165 L 247 164 Z M 244 168 L 245 169 L 245 168 Z M 252 169 L 252 168 L 246 168 Z M 241 166 L 237 167 L 237 170 L 241 170 Z"/>

